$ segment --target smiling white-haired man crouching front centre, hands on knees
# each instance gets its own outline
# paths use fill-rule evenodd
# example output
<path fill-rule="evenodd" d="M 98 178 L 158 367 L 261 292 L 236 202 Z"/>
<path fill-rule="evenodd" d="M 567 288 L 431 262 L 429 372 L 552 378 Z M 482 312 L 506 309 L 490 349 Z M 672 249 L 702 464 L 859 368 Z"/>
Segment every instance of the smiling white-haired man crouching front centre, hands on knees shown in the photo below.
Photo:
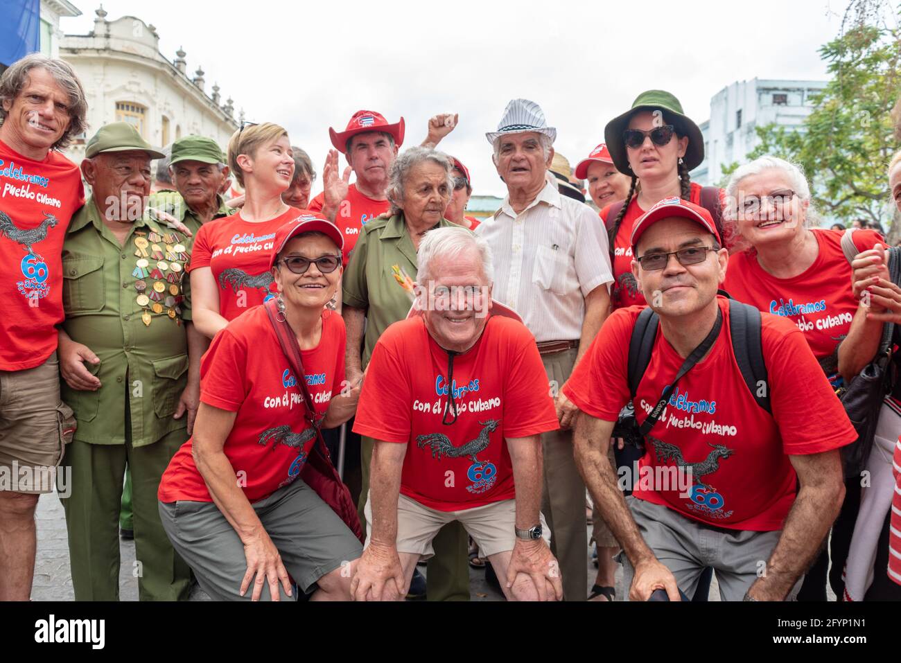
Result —
<path fill-rule="evenodd" d="M 369 361 L 354 426 L 376 440 L 357 600 L 402 598 L 435 534 L 455 521 L 508 599 L 562 598 L 540 513 L 540 435 L 557 417 L 532 334 L 491 302 L 490 255 L 463 228 L 428 232 L 418 309 L 382 334 Z"/>

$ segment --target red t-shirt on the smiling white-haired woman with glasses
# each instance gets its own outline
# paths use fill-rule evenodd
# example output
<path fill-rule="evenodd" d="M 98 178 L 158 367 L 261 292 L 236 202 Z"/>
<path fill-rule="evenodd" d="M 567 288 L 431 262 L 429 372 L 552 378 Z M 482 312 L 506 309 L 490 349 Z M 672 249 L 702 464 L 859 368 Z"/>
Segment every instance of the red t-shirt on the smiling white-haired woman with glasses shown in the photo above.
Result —
<path fill-rule="evenodd" d="M 815 228 L 820 251 L 814 264 L 792 278 L 777 278 L 760 267 L 753 250 L 729 258 L 724 290 L 764 313 L 788 318 L 804 337 L 830 379 L 837 377 L 838 347 L 848 335 L 857 300 L 851 292 L 851 264 L 842 252 L 842 232 Z M 876 231 L 851 234 L 858 251 L 885 243 Z"/>

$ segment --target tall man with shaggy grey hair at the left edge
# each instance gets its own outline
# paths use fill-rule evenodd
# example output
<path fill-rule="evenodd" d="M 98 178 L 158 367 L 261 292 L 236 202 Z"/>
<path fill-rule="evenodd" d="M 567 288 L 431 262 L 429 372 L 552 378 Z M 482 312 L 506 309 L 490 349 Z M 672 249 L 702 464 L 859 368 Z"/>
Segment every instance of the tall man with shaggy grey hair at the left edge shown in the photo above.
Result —
<path fill-rule="evenodd" d="M 85 129 L 85 93 L 61 59 L 29 55 L 0 77 L 0 601 L 27 601 L 34 508 L 53 490 L 75 419 L 59 400 L 62 243 L 85 202 L 59 150 Z"/>

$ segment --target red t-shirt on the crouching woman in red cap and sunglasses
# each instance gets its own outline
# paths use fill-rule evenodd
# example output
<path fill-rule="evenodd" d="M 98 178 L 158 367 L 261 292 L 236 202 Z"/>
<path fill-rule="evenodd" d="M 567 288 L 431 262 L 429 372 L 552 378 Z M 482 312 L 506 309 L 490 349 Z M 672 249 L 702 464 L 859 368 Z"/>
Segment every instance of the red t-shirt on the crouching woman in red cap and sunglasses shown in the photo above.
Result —
<path fill-rule="evenodd" d="M 344 321 L 323 311 L 323 335 L 301 350 L 305 379 L 322 422 L 344 381 Z M 252 354 L 252 360 L 250 353 Z M 216 334 L 200 364 L 200 400 L 237 413 L 223 451 L 250 502 L 265 499 L 300 476 L 315 444 L 304 418 L 296 376 L 278 345 L 266 309 L 256 306 Z M 161 502 L 212 502 L 187 440 L 159 482 Z"/>

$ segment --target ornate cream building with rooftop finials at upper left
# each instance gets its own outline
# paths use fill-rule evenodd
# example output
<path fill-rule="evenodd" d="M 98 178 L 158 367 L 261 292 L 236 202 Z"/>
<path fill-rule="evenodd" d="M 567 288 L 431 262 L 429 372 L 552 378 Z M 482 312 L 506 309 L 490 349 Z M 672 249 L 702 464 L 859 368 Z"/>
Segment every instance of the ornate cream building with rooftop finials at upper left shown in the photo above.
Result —
<path fill-rule="evenodd" d="M 88 130 L 66 153 L 78 163 L 85 143 L 104 124 L 128 122 L 155 147 L 182 136 L 214 139 L 224 150 L 238 129 L 232 99 L 222 102 L 219 87 L 205 91 L 204 71 L 187 74 L 185 51 L 170 62 L 159 52 L 156 28 L 134 16 L 106 20 L 96 10 L 94 30 L 66 35 L 59 57 L 75 68 L 87 96 Z"/>

